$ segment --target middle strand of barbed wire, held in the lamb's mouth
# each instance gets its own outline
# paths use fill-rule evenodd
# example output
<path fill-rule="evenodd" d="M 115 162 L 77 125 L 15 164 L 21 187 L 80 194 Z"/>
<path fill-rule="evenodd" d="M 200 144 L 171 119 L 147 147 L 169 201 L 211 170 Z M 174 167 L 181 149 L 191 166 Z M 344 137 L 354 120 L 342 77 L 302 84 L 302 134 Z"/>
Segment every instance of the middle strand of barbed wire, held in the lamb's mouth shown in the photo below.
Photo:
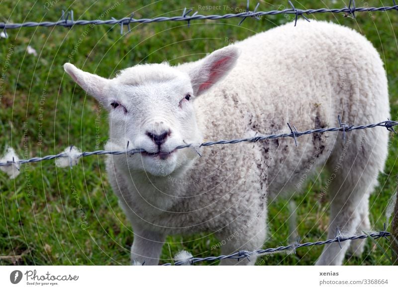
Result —
<path fill-rule="evenodd" d="M 200 145 L 197 144 L 185 144 L 185 145 L 179 145 L 177 147 L 175 147 L 173 150 L 175 149 L 182 149 L 182 148 L 187 148 L 187 147 L 194 147 L 197 148 L 199 147 L 206 147 L 206 146 L 212 146 L 212 145 L 226 145 L 226 144 L 237 144 L 237 143 L 242 143 L 242 142 L 247 142 L 247 143 L 255 143 L 255 142 L 259 142 L 259 141 L 264 141 L 267 139 L 279 139 L 279 138 L 293 138 L 295 145 L 297 146 L 297 138 L 300 136 L 304 136 L 304 135 L 309 135 L 309 134 L 322 134 L 325 132 L 336 132 L 336 131 L 341 131 L 343 132 L 343 140 L 345 140 L 345 134 L 347 132 L 350 131 L 354 131 L 354 130 L 363 130 L 363 129 L 370 129 L 370 128 L 375 128 L 375 127 L 384 127 L 386 128 L 388 131 L 394 132 L 397 134 L 397 132 L 394 130 L 394 126 L 398 125 L 397 121 L 383 121 L 383 122 L 379 122 L 379 123 L 375 123 L 375 124 L 368 124 L 368 125 L 360 125 L 360 126 L 350 126 L 344 123 L 341 123 L 341 119 L 340 116 L 337 117 L 338 122 L 339 122 L 339 127 L 333 127 L 333 128 L 319 128 L 319 129 L 314 129 L 314 130 L 306 130 L 303 132 L 298 132 L 295 126 L 291 126 L 289 123 L 288 127 L 291 130 L 290 133 L 281 133 L 281 134 L 273 134 L 273 135 L 263 135 L 263 136 L 254 136 L 254 137 L 250 137 L 250 138 L 243 138 L 243 139 L 233 139 L 233 140 L 219 140 L 219 141 L 210 141 L 210 142 L 205 142 L 202 143 Z M 292 129 L 293 127 L 293 129 Z M 127 143 L 127 148 L 128 148 L 129 143 Z M 73 146 L 70 146 L 70 148 L 72 149 Z M 172 151 L 173 151 L 172 150 Z M 74 158 L 80 158 L 80 157 L 86 157 L 86 156 L 91 156 L 91 155 L 104 155 L 104 154 L 112 154 L 112 155 L 120 155 L 120 154 L 128 154 L 128 155 L 132 155 L 132 154 L 136 154 L 136 153 L 140 153 L 140 152 L 146 152 L 144 149 L 142 148 L 134 148 L 134 149 L 126 149 L 126 150 L 122 150 L 122 151 L 112 151 L 112 150 L 96 150 L 96 151 L 92 151 L 92 152 L 82 152 L 76 156 L 74 156 Z M 197 151 L 198 152 L 198 151 Z M 198 154 L 200 155 L 200 153 L 198 152 Z M 47 155 L 44 157 L 32 157 L 29 159 L 18 159 L 18 160 L 7 160 L 6 162 L 0 162 L 0 166 L 7 166 L 7 165 L 11 165 L 11 164 L 23 164 L 23 163 L 31 163 L 31 162 L 41 162 L 41 161 L 45 161 L 45 160 L 52 160 L 55 158 L 62 158 L 62 157 L 70 157 L 70 155 L 66 152 L 61 152 L 55 155 Z"/>

